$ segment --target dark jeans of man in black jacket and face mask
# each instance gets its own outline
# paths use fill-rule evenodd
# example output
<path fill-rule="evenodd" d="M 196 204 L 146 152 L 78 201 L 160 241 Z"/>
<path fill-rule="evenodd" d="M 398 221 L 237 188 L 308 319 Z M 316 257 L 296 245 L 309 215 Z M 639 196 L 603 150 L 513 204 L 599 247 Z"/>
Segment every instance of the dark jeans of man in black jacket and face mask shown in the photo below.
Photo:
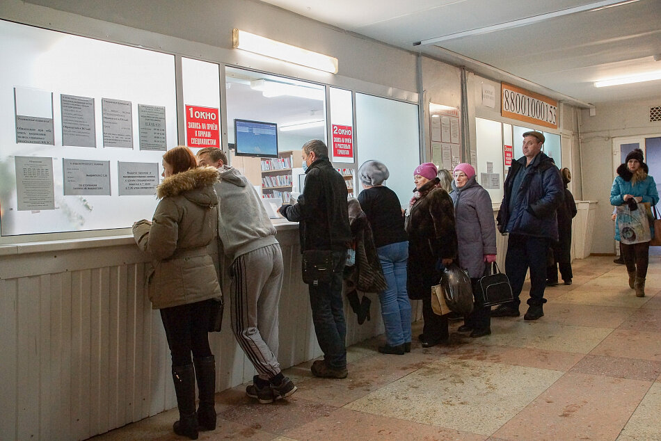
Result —
<path fill-rule="evenodd" d="M 342 303 L 342 271 L 347 250 L 333 251 L 333 278 L 329 283 L 308 285 L 312 323 L 324 361 L 333 369 L 347 367 L 347 322 Z"/>

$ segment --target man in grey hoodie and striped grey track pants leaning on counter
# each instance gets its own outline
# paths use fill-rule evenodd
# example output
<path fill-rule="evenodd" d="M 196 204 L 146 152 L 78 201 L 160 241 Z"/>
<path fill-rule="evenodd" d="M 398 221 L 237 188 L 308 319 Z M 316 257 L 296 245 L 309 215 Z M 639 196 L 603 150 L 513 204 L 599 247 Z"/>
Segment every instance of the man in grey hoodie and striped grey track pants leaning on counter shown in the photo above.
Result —
<path fill-rule="evenodd" d="M 272 403 L 296 392 L 292 380 L 282 375 L 275 355 L 284 273 L 276 228 L 253 185 L 239 170 L 225 165 L 227 157 L 220 149 L 204 148 L 197 158 L 198 166 L 212 166 L 220 173 L 214 184 L 218 259 L 221 272 L 231 280 L 232 332 L 258 373 L 246 394 L 260 403 Z"/>

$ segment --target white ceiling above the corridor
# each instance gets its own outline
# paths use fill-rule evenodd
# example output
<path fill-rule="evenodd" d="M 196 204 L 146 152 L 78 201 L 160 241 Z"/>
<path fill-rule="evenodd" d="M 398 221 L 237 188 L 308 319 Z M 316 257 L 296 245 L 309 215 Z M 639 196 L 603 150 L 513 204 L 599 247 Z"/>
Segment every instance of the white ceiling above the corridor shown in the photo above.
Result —
<path fill-rule="evenodd" d="M 601 79 L 661 71 L 661 61 L 653 60 L 655 54 L 661 55 L 661 0 L 628 0 L 607 8 L 543 18 L 532 24 L 506 26 L 435 44 L 424 44 L 424 40 L 606 1 L 264 1 L 516 84 L 508 78 L 512 74 L 534 83 L 521 84 L 529 89 L 544 93 L 547 88 L 583 104 L 661 97 L 661 80 L 594 87 L 594 81 Z M 414 45 L 421 41 L 422 45 Z"/>

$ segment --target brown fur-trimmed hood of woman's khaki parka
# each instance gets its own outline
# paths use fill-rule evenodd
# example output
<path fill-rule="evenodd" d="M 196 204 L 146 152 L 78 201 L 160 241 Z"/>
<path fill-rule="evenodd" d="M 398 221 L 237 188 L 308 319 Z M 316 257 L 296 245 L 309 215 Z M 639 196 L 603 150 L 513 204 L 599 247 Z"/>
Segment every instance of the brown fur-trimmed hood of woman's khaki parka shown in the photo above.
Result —
<path fill-rule="evenodd" d="M 218 205 L 218 196 L 213 185 L 217 180 L 218 170 L 214 167 L 191 168 L 163 179 L 157 186 L 157 198 L 183 195 L 197 205 L 215 206 Z"/>

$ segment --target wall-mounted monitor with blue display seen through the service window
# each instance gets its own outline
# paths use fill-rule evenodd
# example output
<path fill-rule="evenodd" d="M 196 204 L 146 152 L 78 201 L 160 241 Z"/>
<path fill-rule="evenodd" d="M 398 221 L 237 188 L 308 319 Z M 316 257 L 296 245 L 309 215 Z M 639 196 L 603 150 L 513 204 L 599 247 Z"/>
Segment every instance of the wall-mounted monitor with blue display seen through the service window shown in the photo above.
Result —
<path fill-rule="evenodd" d="M 275 122 L 234 120 L 238 157 L 278 157 L 278 125 Z"/>

